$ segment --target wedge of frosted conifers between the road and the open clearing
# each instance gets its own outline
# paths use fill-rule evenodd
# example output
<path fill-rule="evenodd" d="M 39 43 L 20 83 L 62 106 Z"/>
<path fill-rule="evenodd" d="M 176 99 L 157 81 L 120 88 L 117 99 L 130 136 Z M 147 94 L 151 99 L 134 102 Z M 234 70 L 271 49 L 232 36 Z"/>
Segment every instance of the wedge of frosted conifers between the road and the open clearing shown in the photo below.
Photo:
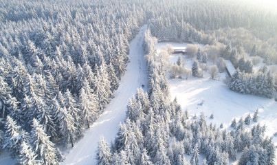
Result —
<path fill-rule="evenodd" d="M 206 157 L 201 164 L 229 164 L 229 159 L 238 159 L 239 164 L 274 164 L 275 146 L 272 138 L 265 137 L 265 126 L 245 129 L 250 120 L 258 121 L 258 111 L 253 118 L 233 120 L 232 131 L 221 131 L 208 125 L 203 113 L 190 118 L 176 98 L 170 101 L 166 69 L 156 61 L 156 41 L 146 32 L 148 94 L 140 89 L 130 99 L 126 121 L 110 148 L 101 138 L 97 164 L 199 164 L 199 154 Z"/>

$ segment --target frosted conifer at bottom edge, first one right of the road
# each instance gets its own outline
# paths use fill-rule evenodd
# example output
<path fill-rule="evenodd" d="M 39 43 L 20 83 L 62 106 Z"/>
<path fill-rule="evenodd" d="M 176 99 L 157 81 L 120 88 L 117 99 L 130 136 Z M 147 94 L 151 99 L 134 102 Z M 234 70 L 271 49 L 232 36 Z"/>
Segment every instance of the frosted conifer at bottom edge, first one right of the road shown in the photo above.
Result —
<path fill-rule="evenodd" d="M 98 165 L 111 164 L 111 151 L 104 137 L 100 137 L 100 141 L 98 142 L 96 160 Z"/>

